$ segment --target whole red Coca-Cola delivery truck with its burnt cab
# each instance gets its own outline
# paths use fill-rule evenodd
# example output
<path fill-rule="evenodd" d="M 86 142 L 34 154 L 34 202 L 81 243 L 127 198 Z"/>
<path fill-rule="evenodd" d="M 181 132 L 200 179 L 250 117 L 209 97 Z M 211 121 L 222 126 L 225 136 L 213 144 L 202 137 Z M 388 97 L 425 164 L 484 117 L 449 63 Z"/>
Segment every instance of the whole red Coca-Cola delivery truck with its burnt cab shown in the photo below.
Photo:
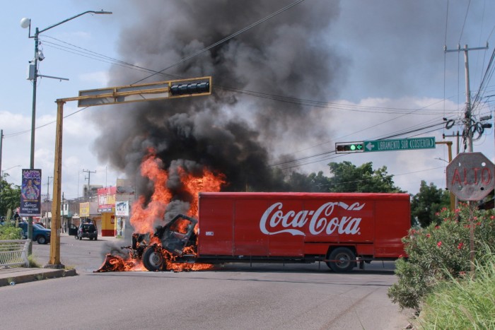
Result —
<path fill-rule="evenodd" d="M 198 218 L 177 215 L 133 235 L 149 271 L 172 263 L 313 263 L 335 272 L 405 255 L 409 194 L 200 193 Z"/>

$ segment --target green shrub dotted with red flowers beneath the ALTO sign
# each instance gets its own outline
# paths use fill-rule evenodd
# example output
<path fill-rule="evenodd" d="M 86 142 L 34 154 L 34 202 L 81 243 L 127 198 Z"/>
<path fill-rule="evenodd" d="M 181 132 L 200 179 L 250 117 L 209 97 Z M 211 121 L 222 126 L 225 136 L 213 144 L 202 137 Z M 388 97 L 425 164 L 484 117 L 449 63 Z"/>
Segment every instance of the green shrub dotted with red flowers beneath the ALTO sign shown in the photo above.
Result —
<path fill-rule="evenodd" d="M 399 259 L 395 274 L 397 283 L 388 290 L 388 297 L 401 308 L 419 312 L 424 297 L 438 283 L 460 278 L 470 272 L 470 226 L 474 229 L 475 259 L 489 254 L 487 247 L 495 243 L 493 211 L 479 211 L 466 204 L 451 212 L 443 208 L 437 223 L 423 229 L 411 229 L 402 239 L 407 259 Z"/>

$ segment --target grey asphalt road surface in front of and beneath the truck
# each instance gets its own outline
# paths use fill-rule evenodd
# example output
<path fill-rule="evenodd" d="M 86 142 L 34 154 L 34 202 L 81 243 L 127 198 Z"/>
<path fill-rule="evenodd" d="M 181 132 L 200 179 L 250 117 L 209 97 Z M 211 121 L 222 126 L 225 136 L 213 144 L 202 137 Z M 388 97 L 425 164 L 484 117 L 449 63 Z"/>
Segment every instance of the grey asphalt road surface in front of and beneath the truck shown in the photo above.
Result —
<path fill-rule="evenodd" d="M 0 288 L 2 329 L 401 329 L 387 297 L 393 263 L 350 274 L 321 264 L 228 264 L 214 271 L 93 273 L 98 241 L 62 236 L 79 276 Z M 50 245 L 33 244 L 38 261 Z"/>

